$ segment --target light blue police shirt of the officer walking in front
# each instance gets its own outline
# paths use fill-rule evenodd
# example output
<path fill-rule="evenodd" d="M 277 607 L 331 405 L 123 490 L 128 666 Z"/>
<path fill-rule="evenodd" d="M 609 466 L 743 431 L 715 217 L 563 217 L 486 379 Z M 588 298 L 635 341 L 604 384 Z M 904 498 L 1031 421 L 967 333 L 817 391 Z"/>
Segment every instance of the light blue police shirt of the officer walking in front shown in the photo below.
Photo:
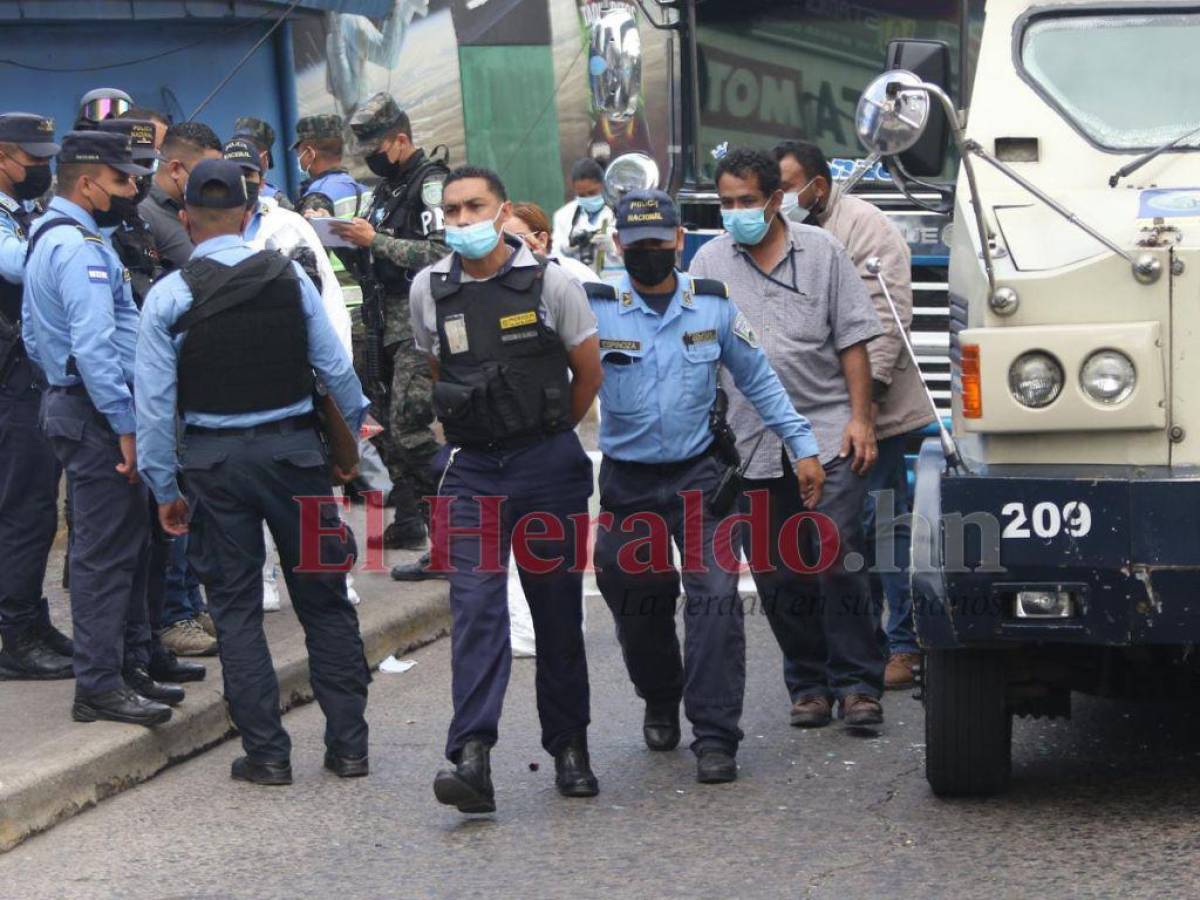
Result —
<path fill-rule="evenodd" d="M 713 442 L 708 410 L 720 366 L 793 460 L 816 456 L 808 420 L 796 412 L 745 317 L 724 296 L 696 294 L 691 276 L 677 271 L 676 281 L 662 316 L 637 294 L 628 275 L 613 286 L 618 300 L 592 299 L 604 364 L 605 456 L 661 463 L 702 454 Z"/>

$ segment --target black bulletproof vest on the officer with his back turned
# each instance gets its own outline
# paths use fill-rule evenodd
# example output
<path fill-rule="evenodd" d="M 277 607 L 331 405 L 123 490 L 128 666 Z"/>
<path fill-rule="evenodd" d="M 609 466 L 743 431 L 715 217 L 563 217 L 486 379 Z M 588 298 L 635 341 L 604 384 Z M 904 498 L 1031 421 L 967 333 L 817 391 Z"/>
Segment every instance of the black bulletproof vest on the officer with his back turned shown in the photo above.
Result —
<path fill-rule="evenodd" d="M 292 262 L 263 251 L 238 265 L 209 258 L 182 269 L 192 307 L 172 326 L 179 408 L 234 414 L 278 409 L 311 396 L 308 331 Z"/>

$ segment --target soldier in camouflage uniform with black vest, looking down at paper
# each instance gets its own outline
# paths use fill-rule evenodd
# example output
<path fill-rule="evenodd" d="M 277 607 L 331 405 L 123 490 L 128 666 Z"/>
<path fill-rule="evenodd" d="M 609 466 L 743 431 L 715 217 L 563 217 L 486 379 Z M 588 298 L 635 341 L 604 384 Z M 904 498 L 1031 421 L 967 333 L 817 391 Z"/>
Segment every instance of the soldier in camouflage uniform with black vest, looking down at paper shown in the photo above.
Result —
<path fill-rule="evenodd" d="M 386 94 L 367 100 L 349 125 L 358 152 L 382 179 L 366 217 L 350 220 L 341 233 L 367 251 L 360 280 L 368 323 L 372 293 L 383 306 L 383 359 L 367 392 L 377 420 L 386 427 L 379 451 L 395 482 L 396 520 L 384 533 L 384 546 L 419 550 L 426 530 L 420 500 L 437 493 L 431 464 L 438 443 L 431 428 L 433 383 L 428 360 L 413 344 L 408 289 L 418 271 L 448 253 L 442 240 L 442 182 L 449 168 L 413 144 L 408 115 Z M 397 566 L 392 577 L 415 580 L 424 568 Z"/>

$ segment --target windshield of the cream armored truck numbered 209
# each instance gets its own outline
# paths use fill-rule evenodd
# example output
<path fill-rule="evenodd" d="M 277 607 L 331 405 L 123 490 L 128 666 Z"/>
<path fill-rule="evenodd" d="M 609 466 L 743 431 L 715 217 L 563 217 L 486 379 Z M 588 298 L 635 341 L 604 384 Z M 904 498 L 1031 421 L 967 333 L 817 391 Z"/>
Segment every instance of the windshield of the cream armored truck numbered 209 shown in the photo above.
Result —
<path fill-rule="evenodd" d="M 1039 16 L 1021 36 L 1021 65 L 1093 144 L 1148 150 L 1200 126 L 1198 44 L 1196 12 Z"/>

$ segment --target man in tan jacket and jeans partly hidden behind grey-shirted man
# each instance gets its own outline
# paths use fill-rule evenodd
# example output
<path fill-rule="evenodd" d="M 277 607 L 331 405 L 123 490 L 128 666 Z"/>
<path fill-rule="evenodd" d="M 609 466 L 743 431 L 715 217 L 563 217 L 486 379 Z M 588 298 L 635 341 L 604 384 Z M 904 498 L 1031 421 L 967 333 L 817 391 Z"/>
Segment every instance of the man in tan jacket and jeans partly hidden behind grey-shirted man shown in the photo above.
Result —
<path fill-rule="evenodd" d="M 904 235 L 882 211 L 866 200 L 844 194 L 833 184 L 829 164 L 816 144 L 802 140 L 780 144 L 775 148 L 775 158 L 787 192 L 785 214 L 793 221 L 824 228 L 842 242 L 883 325 L 883 334 L 866 346 L 880 454 L 868 476 L 866 539 L 872 568 L 878 571 L 888 604 L 889 659 L 884 685 L 905 688 L 913 683 L 912 670 L 919 659 L 907 577 L 910 529 L 907 522 L 890 523 L 907 515 L 910 506 L 905 449 L 912 440 L 912 432 L 934 421 L 934 415 L 925 400 L 920 372 L 908 359 L 887 298 L 876 277 L 866 271 L 866 260 L 878 257 L 883 281 L 908 329 L 912 325 L 912 257 Z M 890 553 L 881 546 L 880 539 L 890 539 Z"/>

